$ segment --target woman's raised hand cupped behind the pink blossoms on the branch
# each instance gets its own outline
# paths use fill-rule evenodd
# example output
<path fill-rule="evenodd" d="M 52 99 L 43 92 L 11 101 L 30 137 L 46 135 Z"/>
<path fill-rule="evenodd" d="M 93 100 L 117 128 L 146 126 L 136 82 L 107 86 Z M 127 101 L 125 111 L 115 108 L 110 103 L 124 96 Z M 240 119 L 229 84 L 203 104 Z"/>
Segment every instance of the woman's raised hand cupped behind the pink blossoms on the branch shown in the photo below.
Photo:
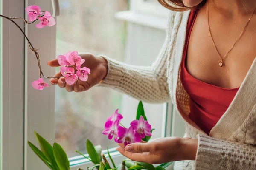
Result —
<path fill-rule="evenodd" d="M 81 56 L 82 59 L 85 59 L 85 62 L 81 67 L 90 68 L 90 74 L 88 75 L 87 82 L 78 80 L 75 84 L 70 86 L 65 82 L 65 77 L 61 77 L 61 72 L 58 72 L 54 77 L 61 78 L 50 79 L 50 83 L 52 85 L 58 84 L 60 88 L 66 88 L 67 91 L 81 92 L 87 91 L 106 77 L 108 73 L 108 63 L 103 57 L 94 56 L 90 53 L 80 53 L 79 56 Z M 57 59 L 49 61 L 47 64 L 51 67 L 60 66 Z"/>

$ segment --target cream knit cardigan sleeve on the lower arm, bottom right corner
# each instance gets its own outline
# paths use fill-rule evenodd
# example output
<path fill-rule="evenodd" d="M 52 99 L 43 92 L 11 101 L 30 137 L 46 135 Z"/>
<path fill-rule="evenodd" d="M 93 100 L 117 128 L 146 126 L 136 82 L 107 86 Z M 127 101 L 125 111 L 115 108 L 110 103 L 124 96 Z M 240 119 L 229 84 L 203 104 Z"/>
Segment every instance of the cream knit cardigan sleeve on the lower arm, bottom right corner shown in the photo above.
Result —
<path fill-rule="evenodd" d="M 256 170 L 256 147 L 198 135 L 196 170 Z"/>

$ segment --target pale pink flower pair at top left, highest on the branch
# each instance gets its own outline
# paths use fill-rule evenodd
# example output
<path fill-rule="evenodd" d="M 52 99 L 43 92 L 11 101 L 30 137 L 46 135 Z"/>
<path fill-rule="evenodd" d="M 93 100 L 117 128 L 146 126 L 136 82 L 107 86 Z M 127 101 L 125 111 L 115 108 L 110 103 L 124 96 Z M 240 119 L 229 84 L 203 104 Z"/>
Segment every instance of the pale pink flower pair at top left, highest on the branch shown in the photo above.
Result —
<path fill-rule="evenodd" d="M 44 28 L 45 26 L 51 27 L 56 24 L 55 19 L 51 16 L 49 11 L 41 11 L 39 6 L 27 6 L 25 10 L 30 22 L 33 22 L 36 19 L 40 20 L 40 23 L 35 25 L 36 28 Z M 44 15 L 42 15 L 43 12 Z"/>

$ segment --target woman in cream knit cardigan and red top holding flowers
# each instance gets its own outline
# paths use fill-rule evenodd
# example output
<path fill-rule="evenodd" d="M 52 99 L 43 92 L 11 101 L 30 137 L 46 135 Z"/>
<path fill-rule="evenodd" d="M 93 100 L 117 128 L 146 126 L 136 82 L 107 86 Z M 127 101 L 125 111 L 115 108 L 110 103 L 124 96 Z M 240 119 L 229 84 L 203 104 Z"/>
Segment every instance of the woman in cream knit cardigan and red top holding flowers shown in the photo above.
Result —
<path fill-rule="evenodd" d="M 256 1 L 158 1 L 172 11 L 151 67 L 81 54 L 91 69 L 87 82 L 50 82 L 67 91 L 99 84 L 145 102 L 171 100 L 186 121 L 184 138 L 120 144 L 117 150 L 134 161 L 176 161 L 175 170 L 256 169 Z"/>

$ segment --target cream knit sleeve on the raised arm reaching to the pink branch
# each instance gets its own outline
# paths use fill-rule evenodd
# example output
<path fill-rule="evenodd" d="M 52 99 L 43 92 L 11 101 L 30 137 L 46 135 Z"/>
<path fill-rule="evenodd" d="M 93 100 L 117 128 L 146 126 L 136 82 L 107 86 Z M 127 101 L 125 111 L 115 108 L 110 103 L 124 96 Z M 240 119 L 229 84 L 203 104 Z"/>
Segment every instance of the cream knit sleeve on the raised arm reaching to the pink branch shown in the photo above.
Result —
<path fill-rule="evenodd" d="M 166 31 L 166 40 L 156 61 L 151 66 L 145 67 L 128 65 L 102 56 L 108 61 L 108 74 L 99 86 L 111 87 L 145 102 L 170 101 L 166 70 L 174 22 L 172 13 L 170 14 L 169 28 Z"/>

